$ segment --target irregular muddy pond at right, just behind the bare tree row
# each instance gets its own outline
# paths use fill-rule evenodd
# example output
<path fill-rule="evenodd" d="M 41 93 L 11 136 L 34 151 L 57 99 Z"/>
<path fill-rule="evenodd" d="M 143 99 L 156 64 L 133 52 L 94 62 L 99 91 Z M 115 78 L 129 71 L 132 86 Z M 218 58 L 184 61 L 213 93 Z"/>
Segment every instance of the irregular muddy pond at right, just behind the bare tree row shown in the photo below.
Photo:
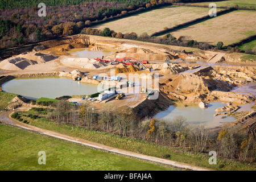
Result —
<path fill-rule="evenodd" d="M 187 119 L 188 123 L 204 123 L 209 127 L 220 126 L 222 122 L 233 122 L 236 120 L 234 117 L 222 118 L 223 115 L 218 115 L 216 117 L 213 116 L 216 114 L 215 109 L 226 106 L 226 104 L 221 102 L 212 102 L 208 105 L 209 107 L 207 109 L 201 109 L 197 104 L 189 104 L 187 107 L 185 107 L 184 104 L 171 105 L 167 110 L 156 114 L 154 118 L 167 119 L 171 121 L 175 117 L 181 115 Z"/>

